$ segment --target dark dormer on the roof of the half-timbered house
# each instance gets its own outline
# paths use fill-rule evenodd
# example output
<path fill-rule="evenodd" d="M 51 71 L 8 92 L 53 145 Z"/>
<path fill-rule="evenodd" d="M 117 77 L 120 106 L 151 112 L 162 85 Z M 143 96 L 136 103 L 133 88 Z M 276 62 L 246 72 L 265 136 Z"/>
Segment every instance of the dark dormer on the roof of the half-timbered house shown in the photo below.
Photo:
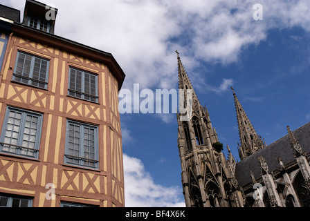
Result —
<path fill-rule="evenodd" d="M 31 28 L 54 34 L 57 8 L 26 0 L 23 23 Z"/>

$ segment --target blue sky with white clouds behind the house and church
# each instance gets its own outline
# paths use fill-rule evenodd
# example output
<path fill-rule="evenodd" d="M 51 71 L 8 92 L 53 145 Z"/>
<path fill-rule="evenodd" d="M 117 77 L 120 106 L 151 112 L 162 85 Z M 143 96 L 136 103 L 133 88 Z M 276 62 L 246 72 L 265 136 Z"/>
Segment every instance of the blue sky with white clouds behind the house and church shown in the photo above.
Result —
<path fill-rule="evenodd" d="M 310 122 L 309 0 L 41 2 L 58 8 L 55 35 L 111 52 L 126 74 L 122 89 L 177 89 L 178 50 L 219 141 L 238 161 L 230 86 L 266 144 L 286 135 L 287 125 Z M 24 13 L 25 0 L 0 3 Z M 120 118 L 125 205 L 185 206 L 176 114 Z"/>

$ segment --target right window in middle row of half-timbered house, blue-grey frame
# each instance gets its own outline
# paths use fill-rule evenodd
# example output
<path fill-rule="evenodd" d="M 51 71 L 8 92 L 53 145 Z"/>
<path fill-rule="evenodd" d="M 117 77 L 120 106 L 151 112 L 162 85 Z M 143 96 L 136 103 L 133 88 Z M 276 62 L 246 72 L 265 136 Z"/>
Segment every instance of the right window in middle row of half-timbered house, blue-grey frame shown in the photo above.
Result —
<path fill-rule="evenodd" d="M 97 126 L 67 122 L 64 162 L 98 169 Z"/>

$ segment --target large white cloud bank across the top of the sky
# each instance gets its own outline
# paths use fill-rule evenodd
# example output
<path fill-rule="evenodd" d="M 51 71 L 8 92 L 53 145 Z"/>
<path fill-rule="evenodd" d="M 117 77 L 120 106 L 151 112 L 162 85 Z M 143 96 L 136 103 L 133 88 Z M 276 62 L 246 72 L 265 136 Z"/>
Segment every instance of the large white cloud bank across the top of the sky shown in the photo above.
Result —
<path fill-rule="evenodd" d="M 8 1 L 8 0 L 6 0 Z M 174 88 L 176 55 L 230 64 L 243 48 L 259 44 L 272 28 L 310 31 L 309 0 L 266 1 L 263 21 L 253 20 L 252 0 L 40 0 L 58 8 L 55 34 L 111 52 L 127 75 L 125 88 Z M 24 0 L 8 1 L 19 8 Z M 200 83 L 199 83 L 200 84 Z"/>

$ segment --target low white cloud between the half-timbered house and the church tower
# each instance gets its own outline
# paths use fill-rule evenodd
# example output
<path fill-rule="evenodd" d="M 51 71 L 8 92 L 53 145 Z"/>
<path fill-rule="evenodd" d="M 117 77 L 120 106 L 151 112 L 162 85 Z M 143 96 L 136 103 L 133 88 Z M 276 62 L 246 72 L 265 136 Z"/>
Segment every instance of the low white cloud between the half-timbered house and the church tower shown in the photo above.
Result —
<path fill-rule="evenodd" d="M 185 202 L 178 186 L 156 184 L 141 160 L 124 154 L 125 206 L 183 207 Z"/>

